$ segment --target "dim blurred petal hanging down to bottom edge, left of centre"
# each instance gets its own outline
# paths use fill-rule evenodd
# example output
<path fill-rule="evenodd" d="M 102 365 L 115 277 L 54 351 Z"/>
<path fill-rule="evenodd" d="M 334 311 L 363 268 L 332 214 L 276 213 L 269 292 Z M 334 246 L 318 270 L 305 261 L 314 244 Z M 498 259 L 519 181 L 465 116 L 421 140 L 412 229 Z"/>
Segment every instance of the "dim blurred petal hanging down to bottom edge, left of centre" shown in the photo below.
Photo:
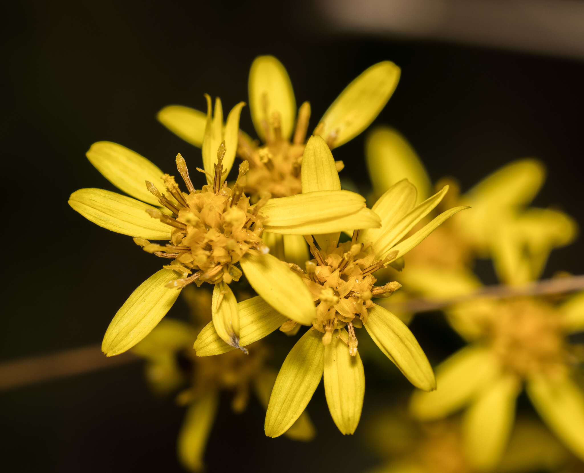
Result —
<path fill-rule="evenodd" d="M 193 402 L 186 412 L 177 447 L 180 462 L 189 471 L 198 472 L 204 468 L 205 446 L 213 427 L 218 401 L 217 394 L 210 392 Z"/>

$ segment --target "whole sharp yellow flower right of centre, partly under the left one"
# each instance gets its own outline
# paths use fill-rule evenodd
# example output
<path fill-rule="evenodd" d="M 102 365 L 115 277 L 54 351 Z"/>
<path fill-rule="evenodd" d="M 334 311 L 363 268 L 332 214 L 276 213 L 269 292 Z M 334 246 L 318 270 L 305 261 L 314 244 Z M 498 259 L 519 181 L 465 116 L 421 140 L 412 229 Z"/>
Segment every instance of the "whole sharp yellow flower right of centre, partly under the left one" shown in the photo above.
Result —
<path fill-rule="evenodd" d="M 309 194 L 340 189 L 335 161 L 321 137 L 312 137 L 307 143 L 302 186 L 303 192 Z M 412 333 L 395 315 L 373 304 L 371 299 L 387 297 L 399 287 L 399 283 L 374 286 L 374 272 L 401 258 L 443 221 L 465 208 L 451 208 L 404 239 L 446 192 L 444 188 L 416 206 L 415 187 L 402 180 L 373 206 L 381 217 L 381 228 L 353 232 L 352 241 L 340 245 L 339 232 L 317 235 L 320 249 L 312 236 L 307 237 L 314 260 L 306 263 L 305 271 L 298 266 L 295 269 L 316 302 L 317 314 L 311 320 L 312 328 L 298 340 L 280 369 L 266 413 L 267 436 L 280 436 L 293 425 L 308 405 L 323 373 L 326 401 L 336 426 L 343 434 L 354 432 L 365 388 L 354 328 L 365 326 L 381 351 L 414 385 L 434 388 L 432 369 Z M 350 221 L 346 224 L 348 227 Z M 256 304 L 258 310 L 249 315 L 245 325 L 242 321 L 242 332 L 245 327 L 249 342 L 266 336 L 286 321 L 280 314 L 266 314 L 259 301 Z M 293 329 L 294 322 L 285 322 L 285 326 L 287 330 Z M 225 344 L 221 348 L 214 332 L 210 324 L 199 334 L 194 345 L 199 356 L 229 348 Z M 243 339 L 242 335 L 240 343 Z"/>

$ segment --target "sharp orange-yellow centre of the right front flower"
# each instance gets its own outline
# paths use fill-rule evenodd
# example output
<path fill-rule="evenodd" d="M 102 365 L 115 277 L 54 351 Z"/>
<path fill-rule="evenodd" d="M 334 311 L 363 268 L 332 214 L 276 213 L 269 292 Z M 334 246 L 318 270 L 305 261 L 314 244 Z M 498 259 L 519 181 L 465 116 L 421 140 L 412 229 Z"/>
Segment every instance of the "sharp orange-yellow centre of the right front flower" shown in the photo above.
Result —
<path fill-rule="evenodd" d="M 333 331 L 343 329 L 340 338 L 349 346 L 352 356 L 357 354 L 354 328 L 367 322 L 367 309 L 373 307 L 372 297 L 389 297 L 401 287 L 397 281 L 376 287 L 373 273 L 383 267 L 371 245 L 345 242 L 328 253 L 319 250 L 311 237 L 308 245 L 314 260 L 306 263 L 304 282 L 317 305 L 317 318 L 312 325 L 322 332 L 322 343 L 331 343 Z"/>

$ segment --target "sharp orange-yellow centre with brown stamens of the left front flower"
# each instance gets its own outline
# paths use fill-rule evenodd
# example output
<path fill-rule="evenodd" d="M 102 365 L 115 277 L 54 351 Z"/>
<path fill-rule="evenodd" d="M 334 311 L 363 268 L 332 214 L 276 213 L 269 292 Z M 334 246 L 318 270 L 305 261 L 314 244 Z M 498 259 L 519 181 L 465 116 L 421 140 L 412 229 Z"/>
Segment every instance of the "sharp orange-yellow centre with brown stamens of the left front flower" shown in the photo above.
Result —
<path fill-rule="evenodd" d="M 262 242 L 263 216 L 260 208 L 269 200 L 264 194 L 255 206 L 244 194 L 244 176 L 249 169 L 247 161 L 239 166 L 239 175 L 233 187 L 228 187 L 223 173 L 225 142 L 219 147 L 213 184 L 195 190 L 189 177 L 185 159 L 176 156 L 176 166 L 189 193 L 180 191 L 173 176 L 162 176 L 168 197 L 147 182 L 148 190 L 170 215 L 160 210 L 147 210 L 153 218 L 169 225 L 169 244 L 153 244 L 144 238 L 134 238 L 136 244 L 161 258 L 172 259 L 166 269 L 173 269 L 185 277 L 168 283 L 168 287 L 182 288 L 189 283 L 217 284 L 239 280 L 241 270 L 237 263 L 250 249 L 265 252 Z M 197 168 L 197 171 L 202 171 Z M 189 276 L 190 275 L 190 276 Z"/>

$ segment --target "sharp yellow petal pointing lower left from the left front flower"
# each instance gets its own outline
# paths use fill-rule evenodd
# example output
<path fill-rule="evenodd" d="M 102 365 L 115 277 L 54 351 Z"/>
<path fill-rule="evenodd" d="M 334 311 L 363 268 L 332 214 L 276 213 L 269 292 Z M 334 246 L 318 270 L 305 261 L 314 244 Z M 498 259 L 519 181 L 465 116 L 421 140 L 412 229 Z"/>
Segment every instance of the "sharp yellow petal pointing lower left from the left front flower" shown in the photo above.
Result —
<path fill-rule="evenodd" d="M 150 333 L 179 297 L 180 290 L 164 286 L 177 277 L 176 272 L 161 269 L 136 288 L 107 327 L 103 353 L 123 353 Z"/>

